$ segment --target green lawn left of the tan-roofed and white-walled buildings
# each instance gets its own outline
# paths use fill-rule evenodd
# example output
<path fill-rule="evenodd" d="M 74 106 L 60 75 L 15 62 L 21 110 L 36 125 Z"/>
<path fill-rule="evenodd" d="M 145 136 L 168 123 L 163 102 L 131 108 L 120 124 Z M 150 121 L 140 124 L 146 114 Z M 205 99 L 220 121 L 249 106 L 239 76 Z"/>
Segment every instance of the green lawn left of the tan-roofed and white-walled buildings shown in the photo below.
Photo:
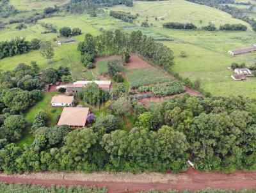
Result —
<path fill-rule="evenodd" d="M 48 116 L 48 125 L 49 127 L 55 126 L 57 124 L 58 116 L 62 112 L 62 108 L 57 107 L 51 107 L 51 99 L 52 96 L 56 95 L 57 93 L 43 93 L 43 98 L 40 102 L 38 102 L 36 105 L 31 107 L 28 112 L 25 113 L 25 118 L 27 121 L 28 126 L 26 127 L 26 130 L 24 130 L 21 139 L 16 142 L 17 145 L 20 147 L 23 146 L 23 144 L 32 144 L 34 141 L 33 135 L 30 133 L 31 125 L 34 121 L 35 115 L 40 112 L 44 111 L 47 113 Z M 56 112 L 52 112 L 52 109 L 56 109 Z"/>

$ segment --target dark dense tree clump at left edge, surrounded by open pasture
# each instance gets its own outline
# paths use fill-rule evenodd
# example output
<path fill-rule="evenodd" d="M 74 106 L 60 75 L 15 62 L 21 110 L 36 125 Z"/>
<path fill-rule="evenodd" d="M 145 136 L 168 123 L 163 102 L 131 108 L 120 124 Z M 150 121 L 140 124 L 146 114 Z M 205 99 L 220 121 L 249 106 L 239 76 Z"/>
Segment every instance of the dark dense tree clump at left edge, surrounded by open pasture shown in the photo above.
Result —
<path fill-rule="evenodd" d="M 16 37 L 10 41 L 0 42 L 0 59 L 37 49 L 40 49 L 40 40 L 27 41 L 25 38 Z"/>

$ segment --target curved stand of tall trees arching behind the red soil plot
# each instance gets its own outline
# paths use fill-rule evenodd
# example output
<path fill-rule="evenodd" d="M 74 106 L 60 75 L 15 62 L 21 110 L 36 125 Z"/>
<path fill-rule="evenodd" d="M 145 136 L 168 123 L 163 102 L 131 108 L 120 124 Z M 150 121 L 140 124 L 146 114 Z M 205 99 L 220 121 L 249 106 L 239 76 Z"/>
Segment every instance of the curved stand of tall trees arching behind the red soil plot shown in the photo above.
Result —
<path fill-rule="evenodd" d="M 132 31 L 131 34 L 127 34 L 116 29 L 114 32 L 104 31 L 102 35 L 95 37 L 86 34 L 84 42 L 79 43 L 78 50 L 82 58 L 84 55 L 109 56 L 135 51 L 148 61 L 164 68 L 174 65 L 172 50 L 154 38 L 142 35 L 141 31 Z"/>

